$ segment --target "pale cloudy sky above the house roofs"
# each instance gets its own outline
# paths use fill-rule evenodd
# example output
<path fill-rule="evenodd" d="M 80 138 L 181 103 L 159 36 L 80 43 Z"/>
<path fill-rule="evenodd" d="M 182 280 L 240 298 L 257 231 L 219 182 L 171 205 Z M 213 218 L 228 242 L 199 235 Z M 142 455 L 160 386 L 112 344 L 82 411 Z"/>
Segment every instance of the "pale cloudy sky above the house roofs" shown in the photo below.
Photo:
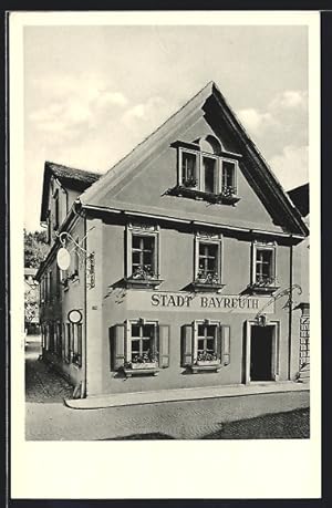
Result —
<path fill-rule="evenodd" d="M 43 167 L 105 173 L 215 81 L 286 190 L 308 182 L 305 27 L 24 28 L 25 228 Z"/>

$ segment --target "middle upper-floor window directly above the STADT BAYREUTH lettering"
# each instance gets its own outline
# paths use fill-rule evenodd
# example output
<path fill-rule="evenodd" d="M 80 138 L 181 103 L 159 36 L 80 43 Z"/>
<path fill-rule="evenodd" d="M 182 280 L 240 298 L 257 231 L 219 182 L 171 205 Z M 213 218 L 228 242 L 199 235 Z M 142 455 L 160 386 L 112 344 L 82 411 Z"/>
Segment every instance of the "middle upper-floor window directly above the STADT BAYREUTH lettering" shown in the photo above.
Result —
<path fill-rule="evenodd" d="M 194 288 L 219 290 L 221 281 L 221 235 L 197 234 L 195 237 Z"/>

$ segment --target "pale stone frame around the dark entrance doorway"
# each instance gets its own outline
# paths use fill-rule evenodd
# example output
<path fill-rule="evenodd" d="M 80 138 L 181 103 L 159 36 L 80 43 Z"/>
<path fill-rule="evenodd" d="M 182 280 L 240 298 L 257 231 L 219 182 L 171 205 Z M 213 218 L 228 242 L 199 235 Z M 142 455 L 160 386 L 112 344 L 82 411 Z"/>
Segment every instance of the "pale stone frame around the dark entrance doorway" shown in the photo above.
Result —
<path fill-rule="evenodd" d="M 245 384 L 249 384 L 250 380 L 250 360 L 251 360 L 251 329 L 258 326 L 257 321 L 246 321 L 246 333 L 245 333 Z M 267 326 L 273 326 L 272 330 L 272 359 L 271 359 L 271 381 L 279 381 L 279 367 L 280 367 L 280 322 L 268 321 Z"/>

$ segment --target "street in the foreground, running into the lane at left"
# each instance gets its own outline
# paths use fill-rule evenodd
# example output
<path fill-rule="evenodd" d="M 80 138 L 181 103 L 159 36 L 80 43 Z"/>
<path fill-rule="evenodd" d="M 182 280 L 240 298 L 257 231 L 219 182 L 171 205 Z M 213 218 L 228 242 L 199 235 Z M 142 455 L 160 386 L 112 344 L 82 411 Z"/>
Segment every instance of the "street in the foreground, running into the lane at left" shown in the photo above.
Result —
<path fill-rule="evenodd" d="M 309 437 L 309 392 L 72 409 L 63 398 L 73 388 L 39 354 L 28 344 L 29 440 Z"/>

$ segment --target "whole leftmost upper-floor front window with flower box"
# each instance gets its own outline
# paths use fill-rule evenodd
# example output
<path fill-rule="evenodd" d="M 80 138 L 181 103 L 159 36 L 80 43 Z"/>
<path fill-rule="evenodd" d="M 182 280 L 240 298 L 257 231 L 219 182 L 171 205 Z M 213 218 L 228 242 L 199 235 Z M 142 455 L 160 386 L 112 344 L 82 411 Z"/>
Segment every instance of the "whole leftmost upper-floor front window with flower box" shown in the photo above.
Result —
<path fill-rule="evenodd" d="M 158 286 L 159 234 L 155 226 L 127 226 L 126 282 L 128 286 Z"/>

